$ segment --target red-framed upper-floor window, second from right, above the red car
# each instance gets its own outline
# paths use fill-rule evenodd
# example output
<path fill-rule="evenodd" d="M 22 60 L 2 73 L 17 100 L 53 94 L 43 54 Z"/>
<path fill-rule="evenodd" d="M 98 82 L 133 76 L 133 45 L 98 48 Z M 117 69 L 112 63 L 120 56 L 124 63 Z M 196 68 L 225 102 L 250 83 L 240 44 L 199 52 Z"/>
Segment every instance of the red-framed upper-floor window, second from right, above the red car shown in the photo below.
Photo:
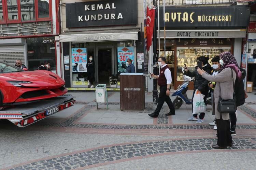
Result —
<path fill-rule="evenodd" d="M 20 0 L 20 11 L 22 21 L 35 20 L 35 2 L 34 0 L 24 1 Z"/>

